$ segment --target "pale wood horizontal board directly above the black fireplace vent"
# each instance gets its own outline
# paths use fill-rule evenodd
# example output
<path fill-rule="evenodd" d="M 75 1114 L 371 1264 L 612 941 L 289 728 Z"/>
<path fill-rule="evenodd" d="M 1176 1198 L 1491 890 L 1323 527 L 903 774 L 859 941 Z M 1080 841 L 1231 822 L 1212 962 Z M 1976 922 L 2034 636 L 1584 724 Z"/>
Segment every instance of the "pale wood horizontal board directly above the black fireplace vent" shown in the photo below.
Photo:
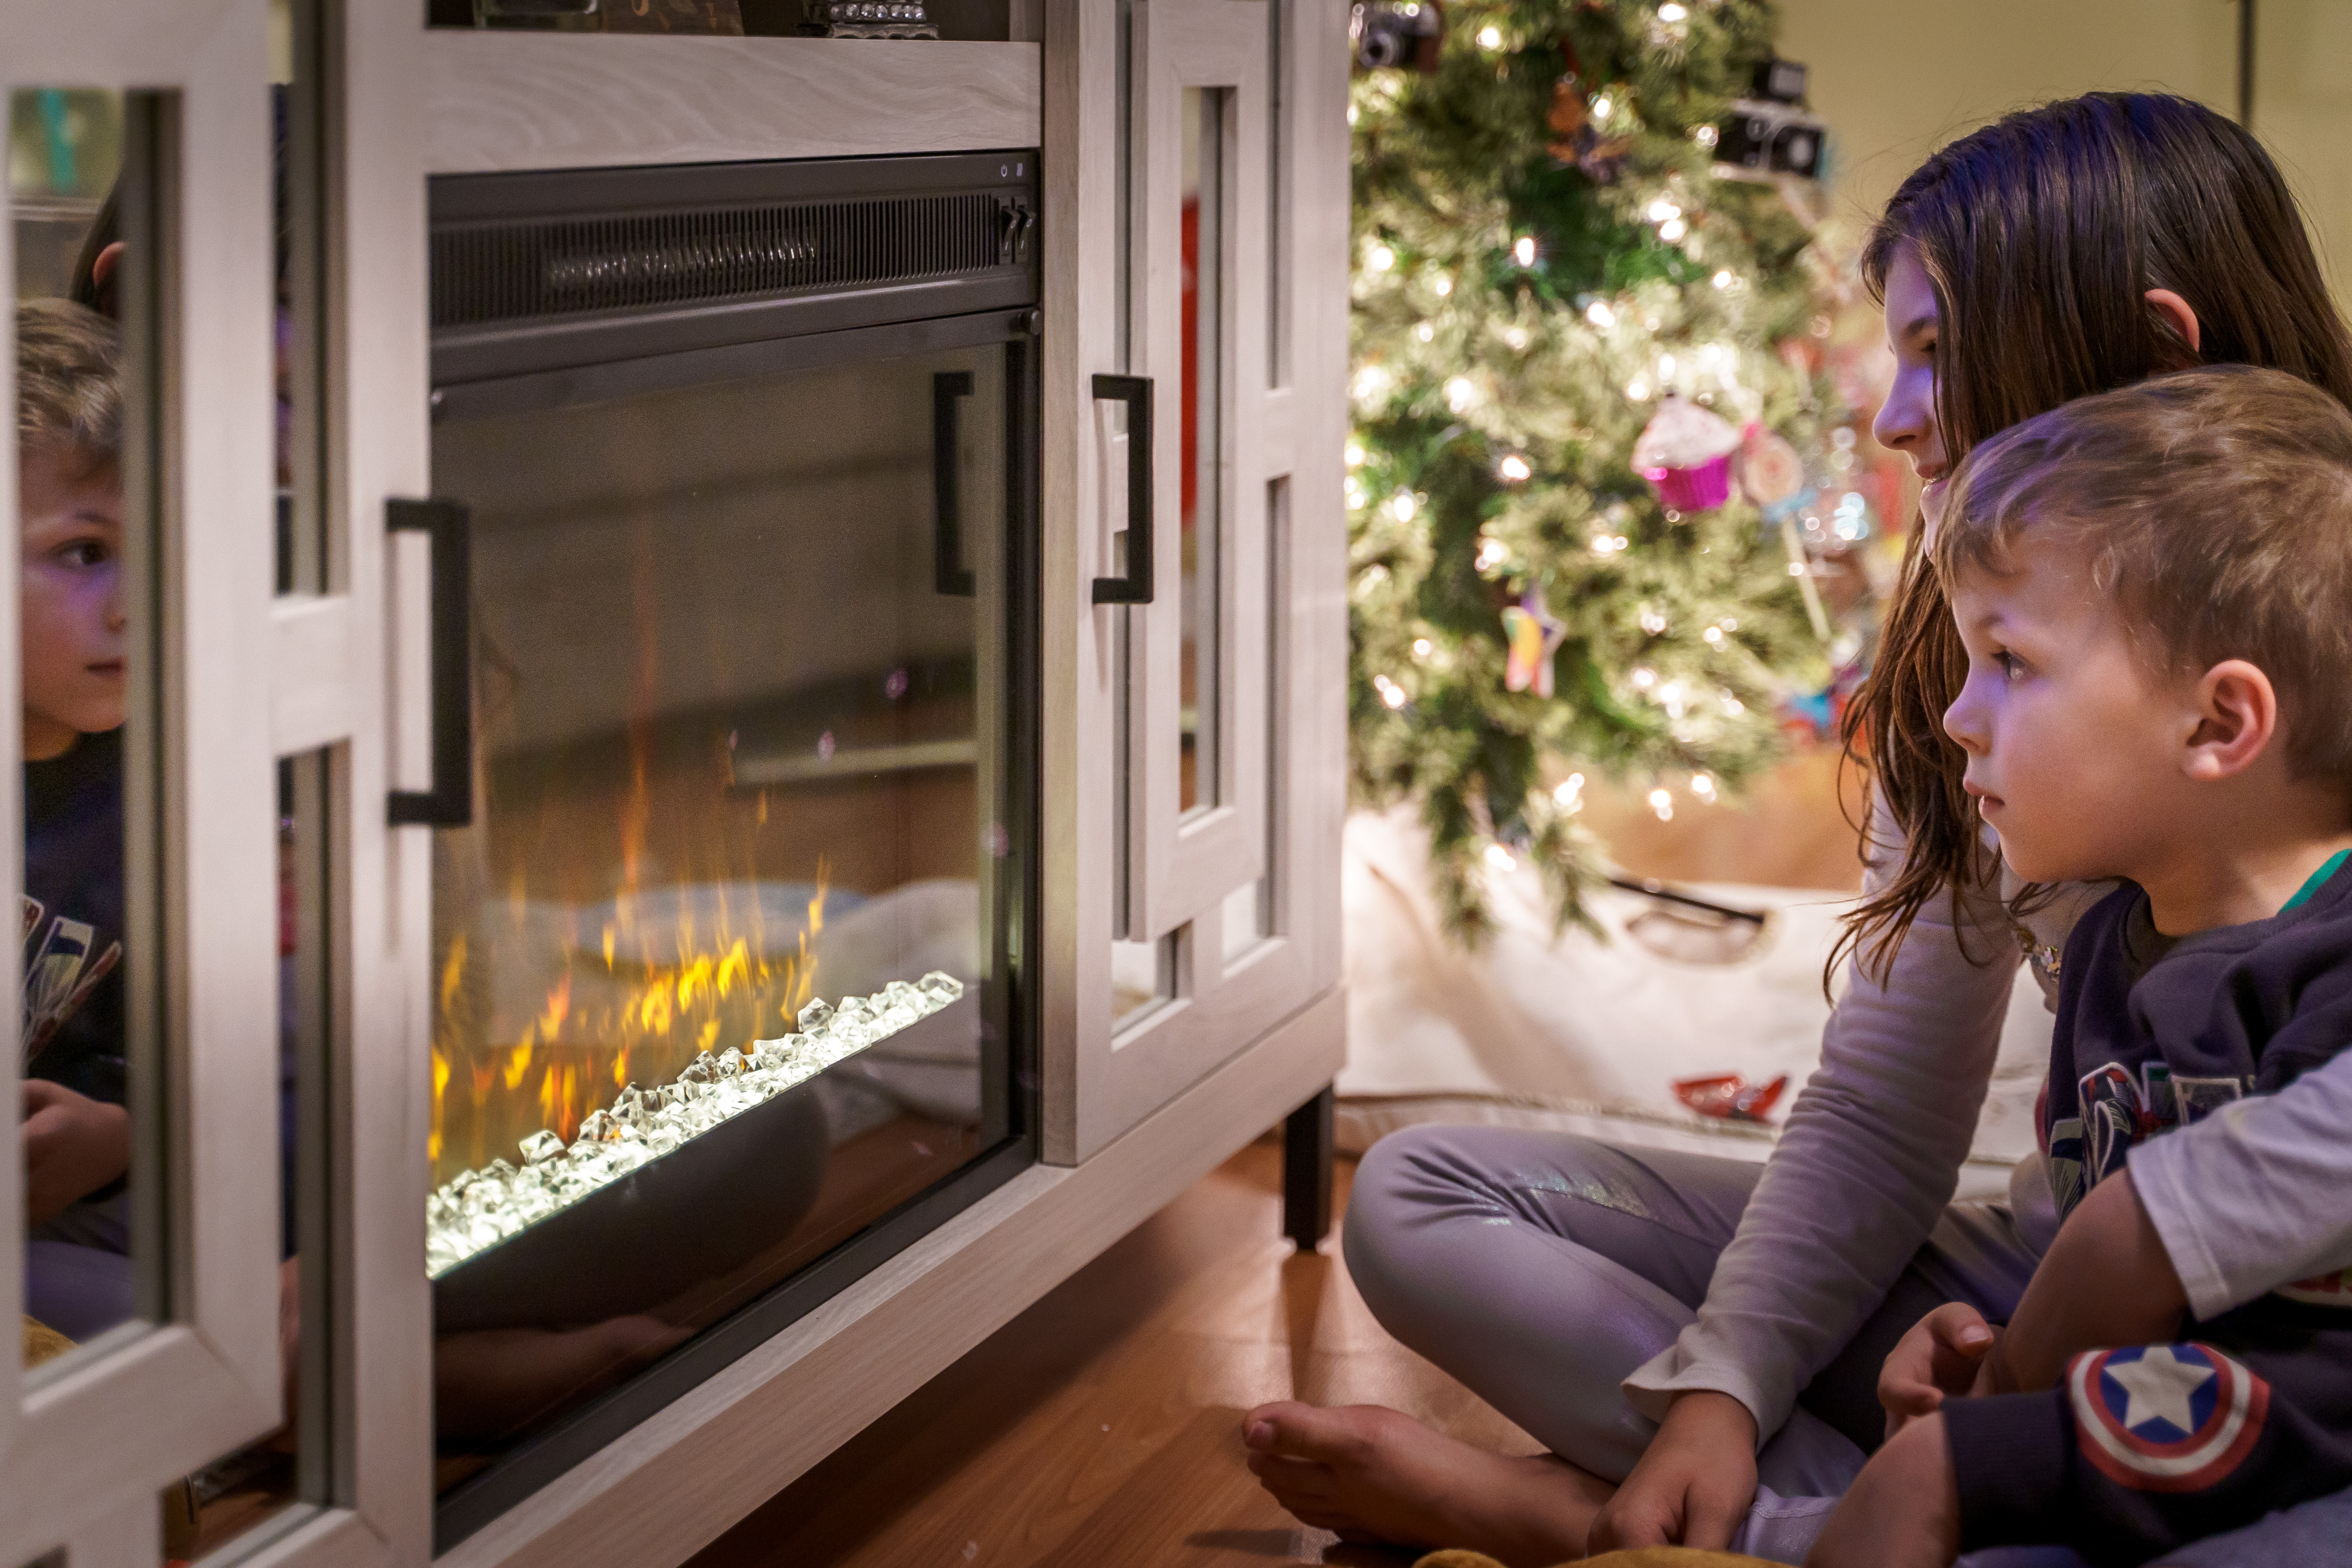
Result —
<path fill-rule="evenodd" d="M 1040 143 L 1040 45 L 426 33 L 428 174 Z"/>

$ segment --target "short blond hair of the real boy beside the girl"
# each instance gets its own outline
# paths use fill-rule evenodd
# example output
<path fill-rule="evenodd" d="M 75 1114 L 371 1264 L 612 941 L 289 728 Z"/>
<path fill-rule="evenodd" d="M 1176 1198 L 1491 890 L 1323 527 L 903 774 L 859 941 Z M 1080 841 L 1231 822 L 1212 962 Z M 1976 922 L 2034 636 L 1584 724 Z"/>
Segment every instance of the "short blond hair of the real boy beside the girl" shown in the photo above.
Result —
<path fill-rule="evenodd" d="M 2251 661 L 2296 776 L 2352 778 L 2352 411 L 2225 364 L 2077 397 L 1952 475 L 1945 588 L 2004 574 L 2025 534 L 2079 550 L 2157 675 Z"/>

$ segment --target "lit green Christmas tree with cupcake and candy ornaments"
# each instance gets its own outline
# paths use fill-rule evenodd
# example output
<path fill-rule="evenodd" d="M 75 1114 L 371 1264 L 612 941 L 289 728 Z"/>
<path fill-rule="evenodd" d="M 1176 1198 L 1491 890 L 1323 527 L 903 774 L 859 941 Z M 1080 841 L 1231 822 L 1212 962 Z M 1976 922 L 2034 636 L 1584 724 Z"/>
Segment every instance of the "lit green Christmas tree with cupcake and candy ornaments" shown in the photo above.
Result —
<path fill-rule="evenodd" d="M 1588 769 L 1712 799 L 1828 679 L 1785 517 L 1842 418 L 1804 353 L 1823 263 L 1715 165 L 1771 31 L 1759 0 L 1451 0 L 1432 71 L 1357 75 L 1355 785 L 1418 804 L 1465 943 L 1489 863 L 1590 924 Z"/>

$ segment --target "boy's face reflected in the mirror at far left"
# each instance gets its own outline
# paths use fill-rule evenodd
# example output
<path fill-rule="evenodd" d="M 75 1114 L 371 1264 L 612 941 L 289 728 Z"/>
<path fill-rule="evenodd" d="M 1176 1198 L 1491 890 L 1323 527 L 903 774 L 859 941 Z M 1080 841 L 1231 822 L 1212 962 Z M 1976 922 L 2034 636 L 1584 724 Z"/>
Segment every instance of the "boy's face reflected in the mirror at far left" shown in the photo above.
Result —
<path fill-rule="evenodd" d="M 78 451 L 31 449 L 24 515 L 24 752 L 59 757 L 122 724 L 122 480 Z"/>

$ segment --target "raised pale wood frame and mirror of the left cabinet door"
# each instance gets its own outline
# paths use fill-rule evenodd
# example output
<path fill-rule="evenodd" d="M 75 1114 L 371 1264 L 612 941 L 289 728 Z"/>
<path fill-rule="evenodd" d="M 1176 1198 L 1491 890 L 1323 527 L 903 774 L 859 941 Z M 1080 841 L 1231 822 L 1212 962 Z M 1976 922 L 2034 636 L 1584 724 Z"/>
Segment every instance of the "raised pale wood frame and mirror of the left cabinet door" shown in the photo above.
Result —
<path fill-rule="evenodd" d="M 75 1568 L 151 1568 L 162 1488 L 275 1427 L 282 1399 L 268 5 L 16 7 L 0 82 L 12 127 L 40 125 L 47 150 L 9 160 L 16 259 L 35 259 L 42 212 L 28 176 L 108 136 L 125 244 L 103 263 L 118 374 L 87 348 L 108 339 L 96 315 L 19 317 L 7 355 L 47 355 L 47 393 L 19 390 L 87 421 L 47 423 L 71 435 L 26 451 L 0 437 L 0 517 L 21 543 L 0 552 L 0 689 L 24 705 L 0 724 L 0 773 L 24 778 L 0 792 L 0 884 L 24 898 L 24 961 L 0 980 L 16 1041 L 0 1298 L 71 1307 L 78 1342 L 31 1368 L 0 1359 L 0 1561 L 64 1547 Z M 106 383 L 111 465 L 87 456 L 115 442 L 92 411 Z M 85 642 L 101 635 L 111 656 Z M 106 1166 L 120 1185 L 49 1180 L 49 1152 L 96 1143 L 26 1135 L 19 1074 L 127 1110 L 127 1159 Z M 54 1211 L 33 1239 L 28 1204 Z M 96 1284 L 75 1295 L 73 1279 Z"/>

